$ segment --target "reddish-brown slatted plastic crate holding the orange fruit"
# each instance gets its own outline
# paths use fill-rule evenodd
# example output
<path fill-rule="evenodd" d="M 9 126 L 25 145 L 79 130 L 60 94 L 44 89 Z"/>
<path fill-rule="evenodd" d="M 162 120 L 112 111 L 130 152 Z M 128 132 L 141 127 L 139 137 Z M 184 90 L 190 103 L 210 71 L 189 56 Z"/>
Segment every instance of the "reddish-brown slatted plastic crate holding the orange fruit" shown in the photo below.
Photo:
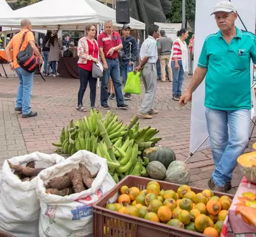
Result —
<path fill-rule="evenodd" d="M 152 222 L 143 218 L 124 215 L 116 211 L 106 209 L 109 198 L 119 192 L 120 187 L 127 185 L 128 187 L 138 187 L 140 190 L 146 189 L 147 184 L 152 179 L 142 178 L 138 176 L 127 176 L 120 181 L 114 188 L 105 194 L 99 201 L 93 204 L 93 237 L 197 237 L 205 236 L 204 234 L 179 229 L 166 224 Z M 180 185 L 168 183 L 164 181 L 157 182 L 164 190 L 174 190 Z M 200 188 L 191 187 L 195 193 L 202 192 Z M 214 192 L 214 195 L 228 195 L 233 199 L 234 195 Z"/>

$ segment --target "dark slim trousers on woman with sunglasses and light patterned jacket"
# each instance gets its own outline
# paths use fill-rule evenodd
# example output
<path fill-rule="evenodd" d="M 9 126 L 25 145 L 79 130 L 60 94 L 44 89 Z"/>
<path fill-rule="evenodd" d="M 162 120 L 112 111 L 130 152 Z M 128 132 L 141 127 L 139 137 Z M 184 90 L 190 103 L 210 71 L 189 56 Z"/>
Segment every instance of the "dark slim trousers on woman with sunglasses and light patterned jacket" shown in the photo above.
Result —
<path fill-rule="evenodd" d="M 97 79 L 92 77 L 92 72 L 86 71 L 80 66 L 78 66 L 78 72 L 79 72 L 79 79 L 80 79 L 80 88 L 78 91 L 77 105 L 83 105 L 84 92 L 89 82 L 91 108 L 95 108 Z"/>

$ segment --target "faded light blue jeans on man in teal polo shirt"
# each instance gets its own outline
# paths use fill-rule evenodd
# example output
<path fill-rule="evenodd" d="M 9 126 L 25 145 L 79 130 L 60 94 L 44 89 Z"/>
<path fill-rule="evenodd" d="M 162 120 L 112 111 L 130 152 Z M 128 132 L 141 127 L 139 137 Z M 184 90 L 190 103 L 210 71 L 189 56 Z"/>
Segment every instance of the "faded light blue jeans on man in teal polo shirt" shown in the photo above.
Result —
<path fill-rule="evenodd" d="M 205 116 L 215 163 L 212 178 L 216 185 L 224 187 L 232 180 L 237 157 L 248 146 L 251 112 L 249 109 L 219 111 L 206 108 Z"/>

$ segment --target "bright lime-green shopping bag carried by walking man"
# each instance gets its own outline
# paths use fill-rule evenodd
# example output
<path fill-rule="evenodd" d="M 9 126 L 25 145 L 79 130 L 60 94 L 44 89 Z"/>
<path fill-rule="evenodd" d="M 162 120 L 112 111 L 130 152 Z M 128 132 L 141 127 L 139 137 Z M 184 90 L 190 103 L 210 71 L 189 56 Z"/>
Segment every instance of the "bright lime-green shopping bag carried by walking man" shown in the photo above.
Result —
<path fill-rule="evenodd" d="M 136 72 L 136 73 L 128 72 L 127 75 L 128 77 L 125 83 L 124 92 L 140 95 L 141 93 L 140 72 Z"/>

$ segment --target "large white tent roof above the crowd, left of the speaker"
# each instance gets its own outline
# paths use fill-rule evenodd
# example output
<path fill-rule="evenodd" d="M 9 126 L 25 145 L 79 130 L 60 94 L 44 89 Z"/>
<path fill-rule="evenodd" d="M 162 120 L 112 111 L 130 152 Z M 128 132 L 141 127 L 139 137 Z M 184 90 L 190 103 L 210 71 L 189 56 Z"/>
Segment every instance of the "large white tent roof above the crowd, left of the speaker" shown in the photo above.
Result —
<path fill-rule="evenodd" d="M 84 30 L 85 24 L 115 22 L 115 17 L 115 10 L 96 0 L 44 0 L 0 17 L 0 26 L 17 27 L 26 18 L 31 20 L 33 29 Z M 132 18 L 130 26 L 145 29 L 143 22 Z"/>

